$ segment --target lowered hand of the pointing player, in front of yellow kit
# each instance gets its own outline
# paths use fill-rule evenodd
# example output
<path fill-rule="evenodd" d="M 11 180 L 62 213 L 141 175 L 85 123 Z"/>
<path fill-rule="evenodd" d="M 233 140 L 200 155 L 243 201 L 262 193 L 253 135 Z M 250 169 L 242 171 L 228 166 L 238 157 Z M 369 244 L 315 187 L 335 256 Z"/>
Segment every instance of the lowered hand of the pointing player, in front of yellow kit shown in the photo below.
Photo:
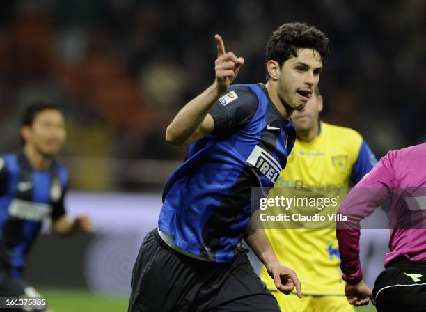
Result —
<path fill-rule="evenodd" d="M 276 289 L 288 295 L 296 286 L 297 296 L 302 297 L 300 281 L 293 270 L 278 261 L 268 265 L 267 269 L 269 275 L 274 279 Z"/>

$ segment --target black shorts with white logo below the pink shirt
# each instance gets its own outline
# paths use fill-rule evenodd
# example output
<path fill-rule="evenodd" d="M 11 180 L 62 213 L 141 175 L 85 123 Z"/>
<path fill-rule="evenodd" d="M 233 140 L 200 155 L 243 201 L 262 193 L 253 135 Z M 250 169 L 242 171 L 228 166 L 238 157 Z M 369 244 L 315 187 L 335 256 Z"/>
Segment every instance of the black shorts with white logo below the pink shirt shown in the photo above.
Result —
<path fill-rule="evenodd" d="M 393 260 L 377 276 L 373 297 L 377 311 L 426 311 L 426 263 Z"/>

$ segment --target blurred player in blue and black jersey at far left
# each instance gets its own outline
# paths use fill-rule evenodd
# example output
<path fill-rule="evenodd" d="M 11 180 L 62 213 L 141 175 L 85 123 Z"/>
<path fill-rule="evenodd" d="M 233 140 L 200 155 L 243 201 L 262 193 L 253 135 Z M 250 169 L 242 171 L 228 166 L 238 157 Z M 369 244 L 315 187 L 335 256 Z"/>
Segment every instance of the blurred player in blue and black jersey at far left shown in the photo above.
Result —
<path fill-rule="evenodd" d="M 54 160 L 66 136 L 58 106 L 40 102 L 27 107 L 20 135 L 23 149 L 0 155 L 0 297 L 40 297 L 22 273 L 45 218 L 50 217 L 58 235 L 93 231 L 87 215 L 70 219 L 65 214 L 68 173 Z"/>

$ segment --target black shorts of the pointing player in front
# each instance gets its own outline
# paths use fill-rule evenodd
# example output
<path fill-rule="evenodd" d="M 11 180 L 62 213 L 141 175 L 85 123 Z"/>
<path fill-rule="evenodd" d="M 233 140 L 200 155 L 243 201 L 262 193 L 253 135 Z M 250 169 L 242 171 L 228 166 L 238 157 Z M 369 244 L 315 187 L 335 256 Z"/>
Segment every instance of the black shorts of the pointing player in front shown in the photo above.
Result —
<path fill-rule="evenodd" d="M 157 229 L 143 239 L 132 273 L 129 312 L 280 311 L 241 249 L 232 263 L 184 256 Z"/>

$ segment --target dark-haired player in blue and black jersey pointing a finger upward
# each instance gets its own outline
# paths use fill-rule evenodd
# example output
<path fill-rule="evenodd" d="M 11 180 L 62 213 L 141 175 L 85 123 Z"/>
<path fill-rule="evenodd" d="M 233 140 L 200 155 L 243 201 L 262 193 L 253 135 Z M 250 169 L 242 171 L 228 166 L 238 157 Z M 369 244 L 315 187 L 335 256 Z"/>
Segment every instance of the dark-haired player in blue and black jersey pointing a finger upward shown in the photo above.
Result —
<path fill-rule="evenodd" d="M 251 224 L 251 188 L 271 187 L 296 132 L 289 120 L 317 86 L 328 39 L 313 26 L 283 24 L 267 42 L 267 84 L 230 86 L 244 59 L 216 35 L 212 86 L 188 102 L 166 140 L 189 144 L 169 178 L 158 229 L 145 236 L 132 273 L 129 311 L 280 311 L 248 262 L 246 242 L 278 290 L 297 288 L 265 231 Z"/>

